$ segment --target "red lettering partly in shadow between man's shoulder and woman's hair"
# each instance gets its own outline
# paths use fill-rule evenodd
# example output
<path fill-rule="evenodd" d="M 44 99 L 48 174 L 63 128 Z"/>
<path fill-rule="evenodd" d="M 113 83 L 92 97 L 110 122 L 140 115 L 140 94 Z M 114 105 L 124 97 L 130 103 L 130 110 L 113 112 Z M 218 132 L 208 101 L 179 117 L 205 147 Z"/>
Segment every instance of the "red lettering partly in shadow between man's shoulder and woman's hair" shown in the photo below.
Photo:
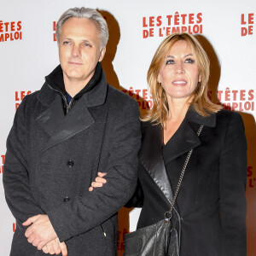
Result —
<path fill-rule="evenodd" d="M 148 89 L 133 89 L 130 87 L 129 90 L 122 91 L 135 99 L 141 110 L 150 109 L 153 107 L 152 96 Z"/>

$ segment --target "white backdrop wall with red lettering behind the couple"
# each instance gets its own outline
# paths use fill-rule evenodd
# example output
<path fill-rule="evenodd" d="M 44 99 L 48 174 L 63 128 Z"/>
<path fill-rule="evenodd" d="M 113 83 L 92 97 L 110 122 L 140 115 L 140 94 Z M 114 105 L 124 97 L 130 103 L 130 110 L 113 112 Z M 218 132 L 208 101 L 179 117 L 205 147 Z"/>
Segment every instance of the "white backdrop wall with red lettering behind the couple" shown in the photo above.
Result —
<path fill-rule="evenodd" d="M 108 83 L 135 98 L 142 113 L 152 106 L 146 74 L 154 51 L 172 32 L 198 34 L 211 60 L 210 96 L 244 119 L 248 143 L 247 255 L 256 255 L 256 2 L 254 0 L 44 0 L 3 1 L 0 8 L 0 177 L 5 142 L 22 98 L 39 90 L 58 65 L 55 21 L 69 8 L 99 9 L 109 25 L 102 61 Z M 230 183 L 232 180 L 230 180 Z M 9 255 L 15 230 L 0 183 L 0 255 Z M 139 210 L 119 212 L 123 236 L 134 230 Z"/>

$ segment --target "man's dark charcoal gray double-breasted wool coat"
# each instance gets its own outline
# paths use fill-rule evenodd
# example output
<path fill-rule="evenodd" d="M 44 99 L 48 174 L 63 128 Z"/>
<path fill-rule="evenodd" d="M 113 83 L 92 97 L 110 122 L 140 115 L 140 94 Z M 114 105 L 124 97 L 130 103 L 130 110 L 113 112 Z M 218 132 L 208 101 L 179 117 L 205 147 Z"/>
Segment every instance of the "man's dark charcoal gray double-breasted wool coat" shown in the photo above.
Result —
<path fill-rule="evenodd" d="M 69 256 L 117 253 L 117 211 L 134 193 L 141 130 L 137 102 L 105 75 L 67 115 L 49 88 L 26 96 L 7 141 L 3 184 L 17 229 L 11 255 L 44 255 L 21 223 L 48 214 Z M 108 183 L 89 192 L 97 172 Z M 103 234 L 107 234 L 104 236 Z"/>

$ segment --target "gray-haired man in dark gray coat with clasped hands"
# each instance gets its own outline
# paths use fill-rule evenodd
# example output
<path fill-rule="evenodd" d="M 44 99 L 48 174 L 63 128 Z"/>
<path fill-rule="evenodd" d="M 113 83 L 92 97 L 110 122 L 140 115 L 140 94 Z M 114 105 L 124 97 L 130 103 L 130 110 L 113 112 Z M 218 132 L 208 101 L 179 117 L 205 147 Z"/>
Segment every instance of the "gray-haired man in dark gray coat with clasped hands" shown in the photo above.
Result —
<path fill-rule="evenodd" d="M 21 102 L 7 140 L 10 255 L 67 255 L 66 245 L 70 256 L 116 255 L 117 211 L 137 181 L 137 102 L 106 82 L 108 26 L 96 10 L 68 9 L 56 38 L 61 65 Z M 108 183 L 89 192 L 97 172 Z"/>

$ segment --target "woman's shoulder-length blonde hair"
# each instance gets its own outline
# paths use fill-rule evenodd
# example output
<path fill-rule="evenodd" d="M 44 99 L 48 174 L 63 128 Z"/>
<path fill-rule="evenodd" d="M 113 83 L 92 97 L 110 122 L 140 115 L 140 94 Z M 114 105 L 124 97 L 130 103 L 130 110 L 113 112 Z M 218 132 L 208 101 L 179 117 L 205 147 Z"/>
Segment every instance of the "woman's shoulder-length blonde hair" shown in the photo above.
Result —
<path fill-rule="evenodd" d="M 190 105 L 202 116 L 216 113 L 221 108 L 219 105 L 212 103 L 207 96 L 210 75 L 210 61 L 207 53 L 202 49 L 197 39 L 189 33 L 173 33 L 160 44 L 148 68 L 147 80 L 154 105 L 153 108 L 148 111 L 146 117 L 143 118 L 143 121 L 151 121 L 155 124 L 165 125 L 166 116 L 169 111 L 168 102 L 166 91 L 163 89 L 162 85 L 158 83 L 157 77 L 160 73 L 160 67 L 163 65 L 164 61 L 166 61 L 166 57 L 172 49 L 172 45 L 179 40 L 184 40 L 189 44 L 192 54 L 195 56 L 199 76 L 201 77 L 201 82 L 198 82 L 194 92 L 189 96 Z"/>

